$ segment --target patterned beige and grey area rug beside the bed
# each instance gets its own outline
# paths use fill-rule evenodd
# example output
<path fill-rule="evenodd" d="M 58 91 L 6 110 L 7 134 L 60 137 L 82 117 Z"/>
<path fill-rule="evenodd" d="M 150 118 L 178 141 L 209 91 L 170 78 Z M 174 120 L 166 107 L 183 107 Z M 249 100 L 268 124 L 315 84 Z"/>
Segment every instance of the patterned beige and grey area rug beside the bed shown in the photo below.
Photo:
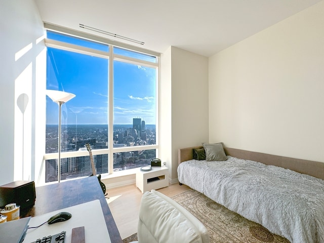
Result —
<path fill-rule="evenodd" d="M 272 234 L 269 230 L 215 203 L 193 189 L 171 197 L 187 209 L 207 228 L 210 243 L 289 243 L 289 240 Z M 137 240 L 133 234 L 124 243 Z"/>

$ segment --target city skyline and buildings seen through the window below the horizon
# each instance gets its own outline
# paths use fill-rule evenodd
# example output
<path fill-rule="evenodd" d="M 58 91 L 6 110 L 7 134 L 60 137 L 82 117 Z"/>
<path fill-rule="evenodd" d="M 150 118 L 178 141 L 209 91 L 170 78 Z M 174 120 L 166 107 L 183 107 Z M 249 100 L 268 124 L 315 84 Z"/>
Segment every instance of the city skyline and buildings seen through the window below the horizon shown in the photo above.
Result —
<path fill-rule="evenodd" d="M 155 149 L 137 149 L 139 145 L 155 144 L 155 125 L 146 125 L 141 118 L 134 118 L 131 125 L 114 125 L 113 147 L 133 147 L 133 151 L 113 153 L 113 171 L 128 170 L 141 166 L 150 165 L 150 160 L 156 157 Z M 92 149 L 108 148 L 107 125 L 65 125 L 62 129 L 61 151 L 86 150 L 85 144 L 91 145 Z M 140 127 L 137 127 L 140 126 Z M 137 127 L 135 129 L 134 127 Z M 58 151 L 58 126 L 46 126 L 46 153 Z M 97 174 L 108 173 L 108 154 L 93 155 Z M 57 180 L 57 160 L 46 160 L 46 182 Z M 89 176 L 92 174 L 90 157 L 76 156 L 61 158 L 62 180 Z"/>

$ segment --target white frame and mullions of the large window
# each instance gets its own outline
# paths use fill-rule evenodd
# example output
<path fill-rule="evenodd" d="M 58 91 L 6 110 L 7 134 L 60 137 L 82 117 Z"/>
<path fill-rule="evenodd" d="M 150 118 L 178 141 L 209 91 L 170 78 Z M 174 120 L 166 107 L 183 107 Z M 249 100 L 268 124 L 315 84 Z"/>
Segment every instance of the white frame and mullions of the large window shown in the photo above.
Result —
<path fill-rule="evenodd" d="M 44 27 L 46 30 L 51 30 L 55 32 L 59 32 L 62 34 L 71 35 L 78 38 L 84 38 L 88 39 L 89 41 L 103 43 L 106 45 L 109 45 L 109 52 L 104 52 L 92 48 L 86 48 L 78 45 L 68 44 L 60 41 L 56 41 L 53 39 L 45 38 L 45 46 L 61 49 L 65 51 L 70 52 L 76 52 L 80 54 L 85 55 L 91 55 L 96 56 L 100 58 L 105 58 L 109 60 L 109 67 L 108 67 L 108 99 L 109 99 L 109 106 L 108 106 L 108 148 L 104 149 L 94 149 L 92 150 L 93 155 L 99 155 L 99 154 L 108 154 L 108 173 L 104 175 L 111 175 L 118 172 L 113 172 L 113 154 L 114 153 L 121 153 L 121 152 L 130 152 L 130 151 L 137 151 L 137 150 L 149 150 L 149 149 L 155 149 L 156 150 L 156 156 L 159 157 L 159 151 L 160 151 L 160 128 L 159 128 L 159 121 L 160 121 L 160 114 L 159 114 L 159 104 L 160 104 L 160 98 L 159 98 L 159 87 L 160 87 L 160 54 L 149 51 L 146 49 L 138 48 L 135 46 L 130 46 L 124 43 L 119 43 L 115 41 L 111 41 L 110 39 L 106 39 L 104 37 L 100 37 L 97 35 L 91 35 L 89 33 L 80 32 L 72 29 L 68 29 L 65 27 L 44 23 Z M 119 54 L 114 54 L 113 48 L 121 48 L 126 49 L 132 52 L 138 52 L 146 55 L 151 55 L 156 57 L 156 61 L 149 62 L 145 60 L 140 60 L 128 56 L 123 56 Z M 113 113 L 114 113 L 114 102 L 113 102 L 113 62 L 114 61 L 121 61 L 129 64 L 135 64 L 135 65 L 144 65 L 146 67 L 155 68 L 156 70 L 156 84 L 155 84 L 155 132 L 156 132 L 156 141 L 154 145 L 143 145 L 143 146 L 131 146 L 131 147 L 113 147 Z M 87 150 L 83 151 L 69 151 L 69 152 L 61 152 L 61 158 L 69 158 L 69 157 L 78 157 L 78 156 L 89 156 L 89 152 Z M 43 159 L 46 161 L 47 159 L 58 159 L 58 152 L 56 153 L 45 153 Z M 45 167 L 44 167 L 45 168 Z M 45 169 L 43 170 L 43 173 L 45 174 Z M 81 177 L 79 177 L 81 178 Z M 50 183 L 50 182 L 48 182 Z"/>

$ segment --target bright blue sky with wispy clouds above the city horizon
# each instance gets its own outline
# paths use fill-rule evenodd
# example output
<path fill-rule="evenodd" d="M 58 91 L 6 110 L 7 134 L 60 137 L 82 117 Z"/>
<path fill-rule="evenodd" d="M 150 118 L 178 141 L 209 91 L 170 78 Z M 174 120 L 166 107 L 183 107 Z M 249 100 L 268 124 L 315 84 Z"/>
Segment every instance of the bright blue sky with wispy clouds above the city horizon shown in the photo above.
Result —
<path fill-rule="evenodd" d="M 108 124 L 108 62 L 48 48 L 47 89 L 76 95 L 62 106 L 62 124 Z M 114 124 L 155 124 L 155 69 L 114 61 L 113 74 Z M 58 105 L 47 97 L 47 124 L 57 123 Z"/>

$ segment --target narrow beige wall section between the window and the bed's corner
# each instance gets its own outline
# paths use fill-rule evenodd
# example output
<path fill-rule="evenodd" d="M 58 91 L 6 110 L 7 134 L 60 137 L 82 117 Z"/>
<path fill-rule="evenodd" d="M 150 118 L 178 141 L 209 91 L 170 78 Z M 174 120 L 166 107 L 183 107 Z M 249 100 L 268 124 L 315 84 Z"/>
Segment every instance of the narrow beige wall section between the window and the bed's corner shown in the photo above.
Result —
<path fill-rule="evenodd" d="M 172 174 L 170 178 L 172 182 L 176 182 L 178 149 L 201 145 L 202 142 L 209 140 L 208 58 L 171 47 L 171 80 Z"/>

